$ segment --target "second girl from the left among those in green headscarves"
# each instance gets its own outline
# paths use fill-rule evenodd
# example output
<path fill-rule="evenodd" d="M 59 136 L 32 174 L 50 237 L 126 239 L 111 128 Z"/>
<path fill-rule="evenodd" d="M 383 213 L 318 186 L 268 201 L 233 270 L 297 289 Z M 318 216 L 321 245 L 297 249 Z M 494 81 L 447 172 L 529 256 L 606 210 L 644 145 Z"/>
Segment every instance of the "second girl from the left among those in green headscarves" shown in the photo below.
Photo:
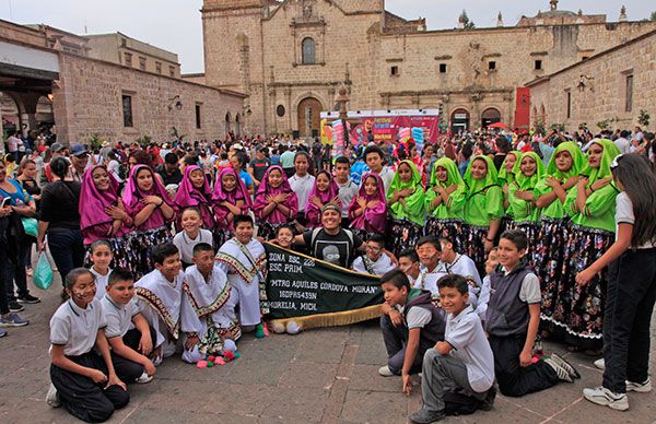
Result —
<path fill-rule="evenodd" d="M 426 190 L 425 204 L 429 220 L 425 234 L 445 237 L 454 243 L 456 251 L 462 251 L 462 213 L 467 186 L 456 163 L 441 157 L 433 165 Z"/>

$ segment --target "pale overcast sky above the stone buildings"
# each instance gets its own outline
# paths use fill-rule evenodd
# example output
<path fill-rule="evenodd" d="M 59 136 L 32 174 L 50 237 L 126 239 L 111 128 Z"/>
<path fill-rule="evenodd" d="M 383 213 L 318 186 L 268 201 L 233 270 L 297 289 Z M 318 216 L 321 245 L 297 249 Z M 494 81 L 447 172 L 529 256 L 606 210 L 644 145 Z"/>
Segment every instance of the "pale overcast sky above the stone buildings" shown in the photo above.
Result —
<path fill-rule="evenodd" d="M 347 0 L 348 1 L 348 0 Z M 549 10 L 548 0 L 387 0 L 388 11 L 406 19 L 426 17 L 429 30 L 456 26 L 462 9 L 477 26 L 494 26 L 502 12 L 506 25 L 522 15 Z M 649 0 L 561 0 L 559 9 L 606 13 L 617 21 L 622 4 L 629 20 L 640 21 L 656 11 Z M 121 32 L 178 54 L 183 72 L 203 72 L 202 0 L 0 0 L 0 19 L 16 23 L 45 23 L 75 34 Z"/>

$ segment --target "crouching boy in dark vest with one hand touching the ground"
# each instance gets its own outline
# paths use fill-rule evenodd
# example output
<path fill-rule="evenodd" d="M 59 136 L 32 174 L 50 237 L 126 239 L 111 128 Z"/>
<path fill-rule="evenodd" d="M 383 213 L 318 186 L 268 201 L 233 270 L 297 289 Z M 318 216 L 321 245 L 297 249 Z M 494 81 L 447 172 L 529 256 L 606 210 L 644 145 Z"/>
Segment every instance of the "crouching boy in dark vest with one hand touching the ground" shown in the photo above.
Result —
<path fill-rule="evenodd" d="M 426 350 L 444 340 L 444 314 L 433 306 L 431 292 L 410 288 L 401 270 L 385 273 L 380 286 L 385 293 L 380 329 L 389 360 L 378 374 L 401 375 L 403 392 L 410 393 L 410 374 L 419 373 Z"/>

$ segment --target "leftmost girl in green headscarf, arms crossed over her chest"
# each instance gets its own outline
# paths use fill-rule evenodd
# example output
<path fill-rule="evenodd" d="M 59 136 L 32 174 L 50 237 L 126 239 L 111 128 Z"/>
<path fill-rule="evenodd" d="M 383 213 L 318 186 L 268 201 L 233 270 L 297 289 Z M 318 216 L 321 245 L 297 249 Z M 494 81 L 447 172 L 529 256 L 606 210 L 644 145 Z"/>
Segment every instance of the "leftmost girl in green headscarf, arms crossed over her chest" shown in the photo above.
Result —
<path fill-rule="evenodd" d="M 401 161 L 387 190 L 387 246 L 395 257 L 403 250 L 413 249 L 423 235 L 424 196 L 417 166 L 412 161 Z"/>

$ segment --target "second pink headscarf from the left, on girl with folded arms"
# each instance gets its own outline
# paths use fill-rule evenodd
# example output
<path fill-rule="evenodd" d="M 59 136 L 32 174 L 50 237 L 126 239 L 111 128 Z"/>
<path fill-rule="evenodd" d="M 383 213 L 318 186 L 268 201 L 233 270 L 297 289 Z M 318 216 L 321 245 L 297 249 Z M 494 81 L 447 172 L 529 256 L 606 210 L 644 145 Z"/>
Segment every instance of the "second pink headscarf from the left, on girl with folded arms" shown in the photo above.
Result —
<path fill-rule="evenodd" d="M 148 192 L 142 191 L 137 185 L 137 174 L 141 169 L 150 170 L 153 177 L 153 187 L 151 187 L 151 189 Z M 126 210 L 128 211 L 130 216 L 134 217 L 144 208 L 144 204 L 143 202 L 141 202 L 141 200 L 147 196 L 157 196 L 162 200 L 164 200 L 166 204 L 168 204 L 168 207 L 171 207 L 172 209 L 174 208 L 173 201 L 168 197 L 166 189 L 164 188 L 164 186 L 162 186 L 160 179 L 155 177 L 155 173 L 153 173 L 151 167 L 148 165 L 134 165 L 132 169 L 130 169 L 130 177 L 127 180 L 126 189 L 122 196 Z M 144 231 L 159 228 L 164 224 L 166 224 L 166 219 L 164 217 L 162 210 L 160 208 L 156 208 L 153 211 L 153 213 L 151 213 L 149 219 L 145 220 L 145 222 L 141 224 L 137 229 Z"/>

